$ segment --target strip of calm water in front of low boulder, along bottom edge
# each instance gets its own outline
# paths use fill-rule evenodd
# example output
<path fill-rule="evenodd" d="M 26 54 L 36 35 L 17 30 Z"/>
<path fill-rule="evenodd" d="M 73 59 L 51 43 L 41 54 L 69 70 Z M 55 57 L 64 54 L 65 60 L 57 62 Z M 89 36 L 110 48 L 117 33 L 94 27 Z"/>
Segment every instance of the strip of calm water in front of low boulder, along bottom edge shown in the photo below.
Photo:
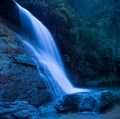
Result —
<path fill-rule="evenodd" d="M 43 119 L 120 119 L 120 105 L 116 105 L 103 114 L 47 114 Z"/>

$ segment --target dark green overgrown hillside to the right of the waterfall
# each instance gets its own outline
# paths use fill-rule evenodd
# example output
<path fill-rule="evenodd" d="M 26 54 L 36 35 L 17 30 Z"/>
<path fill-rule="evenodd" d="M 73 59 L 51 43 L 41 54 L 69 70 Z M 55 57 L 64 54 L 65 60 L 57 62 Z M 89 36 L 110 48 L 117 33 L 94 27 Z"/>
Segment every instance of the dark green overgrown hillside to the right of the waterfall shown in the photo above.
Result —
<path fill-rule="evenodd" d="M 76 85 L 120 81 L 119 0 L 17 2 L 49 28 L 56 39 L 68 74 Z M 6 18 L 13 24 L 16 14 L 11 13 Z M 19 26 L 19 22 L 15 24 Z"/>

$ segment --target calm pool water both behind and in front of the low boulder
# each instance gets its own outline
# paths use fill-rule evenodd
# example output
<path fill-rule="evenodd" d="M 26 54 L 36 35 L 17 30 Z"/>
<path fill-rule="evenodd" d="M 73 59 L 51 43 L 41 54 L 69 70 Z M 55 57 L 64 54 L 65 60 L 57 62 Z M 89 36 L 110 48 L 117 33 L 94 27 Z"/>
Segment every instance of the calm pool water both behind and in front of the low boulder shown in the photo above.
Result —
<path fill-rule="evenodd" d="M 110 92 L 120 94 L 119 86 L 107 86 L 107 87 L 92 87 L 92 88 L 83 88 L 93 92 L 109 90 Z M 102 114 L 93 114 L 93 113 L 67 113 L 67 114 L 57 114 L 53 113 L 44 113 L 42 114 L 43 119 L 120 119 L 120 104 L 115 105 L 112 109 L 107 110 Z"/>

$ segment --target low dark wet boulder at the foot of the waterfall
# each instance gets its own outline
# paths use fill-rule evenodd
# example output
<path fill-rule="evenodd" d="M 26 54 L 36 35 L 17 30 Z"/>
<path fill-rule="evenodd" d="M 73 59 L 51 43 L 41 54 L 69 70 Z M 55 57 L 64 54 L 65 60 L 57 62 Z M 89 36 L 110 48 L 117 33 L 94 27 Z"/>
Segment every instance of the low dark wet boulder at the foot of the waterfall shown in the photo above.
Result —
<path fill-rule="evenodd" d="M 96 112 L 101 113 L 115 104 L 120 97 L 109 91 L 82 92 L 65 95 L 56 100 L 54 108 L 59 113 Z"/>

